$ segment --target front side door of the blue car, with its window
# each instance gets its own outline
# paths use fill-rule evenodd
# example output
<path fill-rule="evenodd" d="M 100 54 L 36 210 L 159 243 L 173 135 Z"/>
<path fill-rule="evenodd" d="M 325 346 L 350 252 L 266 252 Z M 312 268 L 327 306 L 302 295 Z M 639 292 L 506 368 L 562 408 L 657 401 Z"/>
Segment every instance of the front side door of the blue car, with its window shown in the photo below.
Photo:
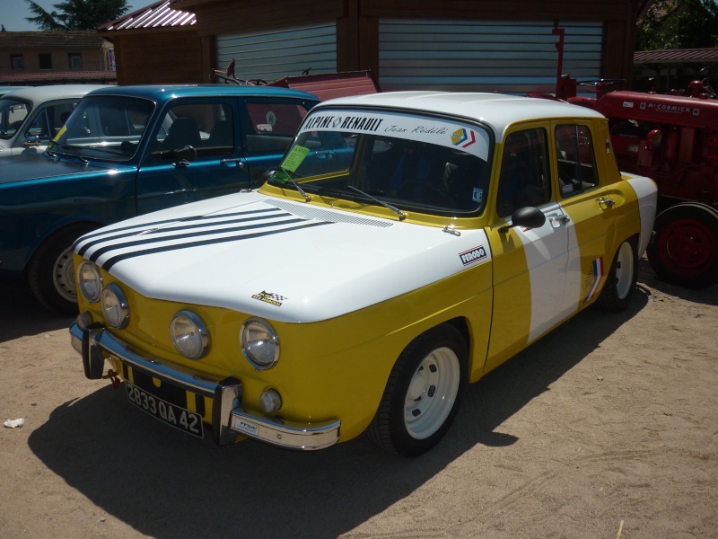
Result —
<path fill-rule="evenodd" d="M 162 110 L 137 177 L 138 213 L 249 187 L 238 107 L 231 97 L 207 97 Z"/>

